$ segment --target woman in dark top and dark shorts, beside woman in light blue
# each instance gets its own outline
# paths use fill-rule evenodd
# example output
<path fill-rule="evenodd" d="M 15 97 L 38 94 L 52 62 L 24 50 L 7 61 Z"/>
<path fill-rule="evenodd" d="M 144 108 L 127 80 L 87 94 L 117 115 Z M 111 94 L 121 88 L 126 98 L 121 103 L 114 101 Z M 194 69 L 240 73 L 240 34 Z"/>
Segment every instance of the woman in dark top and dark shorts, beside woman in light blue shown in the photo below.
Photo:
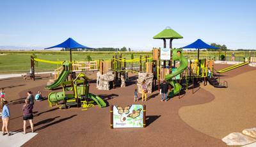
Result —
<path fill-rule="evenodd" d="M 23 105 L 23 134 L 26 134 L 26 121 L 29 120 L 31 132 L 34 132 L 34 125 L 33 125 L 33 104 L 29 104 L 29 100 L 25 100 L 25 105 Z"/>

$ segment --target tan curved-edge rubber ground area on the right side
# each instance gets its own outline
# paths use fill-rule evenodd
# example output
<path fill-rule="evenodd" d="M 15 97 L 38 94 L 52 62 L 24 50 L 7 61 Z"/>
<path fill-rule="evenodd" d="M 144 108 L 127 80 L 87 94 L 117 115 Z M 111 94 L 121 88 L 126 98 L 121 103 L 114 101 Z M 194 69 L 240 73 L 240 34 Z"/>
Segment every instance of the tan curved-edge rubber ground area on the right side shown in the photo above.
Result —
<path fill-rule="evenodd" d="M 256 68 L 253 71 L 225 79 L 227 89 L 203 86 L 215 98 L 202 105 L 190 105 L 179 110 L 180 117 L 191 127 L 222 139 L 232 132 L 256 127 Z M 191 117 L 193 115 L 193 117 Z"/>

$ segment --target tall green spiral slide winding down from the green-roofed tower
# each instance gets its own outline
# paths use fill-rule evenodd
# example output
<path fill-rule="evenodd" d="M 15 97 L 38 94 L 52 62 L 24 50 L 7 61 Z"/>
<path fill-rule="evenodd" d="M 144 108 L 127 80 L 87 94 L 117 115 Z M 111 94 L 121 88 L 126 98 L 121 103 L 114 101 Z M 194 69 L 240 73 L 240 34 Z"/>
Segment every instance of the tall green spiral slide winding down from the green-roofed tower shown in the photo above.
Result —
<path fill-rule="evenodd" d="M 180 54 L 178 52 L 180 52 Z M 186 68 L 188 66 L 188 59 L 183 57 L 182 49 L 173 49 L 172 59 L 173 59 L 173 61 L 179 60 L 180 66 L 172 74 L 165 75 L 166 81 L 168 81 L 173 86 L 172 91 L 169 93 L 170 97 L 177 95 L 181 89 L 181 85 L 178 82 L 176 82 L 175 79 L 173 79 L 173 77 L 181 74 L 184 70 L 186 70 Z"/>

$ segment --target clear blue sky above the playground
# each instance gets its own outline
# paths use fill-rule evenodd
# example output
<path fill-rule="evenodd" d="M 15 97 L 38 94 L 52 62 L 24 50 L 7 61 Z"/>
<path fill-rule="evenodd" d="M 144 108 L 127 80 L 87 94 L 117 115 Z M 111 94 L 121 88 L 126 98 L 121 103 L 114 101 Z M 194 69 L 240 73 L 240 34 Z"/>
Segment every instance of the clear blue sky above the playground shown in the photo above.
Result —
<path fill-rule="evenodd" d="M 182 47 L 201 38 L 256 49 L 256 1 L 0 1 L 0 46 L 49 47 L 68 37 L 89 47 L 163 47 L 170 26 Z"/>

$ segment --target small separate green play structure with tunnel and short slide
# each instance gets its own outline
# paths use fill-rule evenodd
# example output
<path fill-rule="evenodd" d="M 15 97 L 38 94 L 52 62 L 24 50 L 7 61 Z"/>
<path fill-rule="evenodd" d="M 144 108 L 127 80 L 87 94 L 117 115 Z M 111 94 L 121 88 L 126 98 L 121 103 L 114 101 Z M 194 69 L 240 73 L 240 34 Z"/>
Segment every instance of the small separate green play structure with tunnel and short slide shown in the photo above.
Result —
<path fill-rule="evenodd" d="M 67 108 L 72 105 L 76 105 L 77 107 L 81 105 L 83 108 L 88 108 L 92 107 L 94 103 L 99 105 L 99 107 L 106 107 L 106 103 L 102 98 L 89 93 L 89 80 L 86 75 L 80 73 L 77 75 L 76 79 L 72 81 L 61 82 L 63 91 L 49 93 L 49 106 L 58 105 L 58 102 L 63 101 L 64 105 L 62 105 L 61 108 Z M 68 87 L 70 84 L 72 84 L 72 87 Z M 68 91 L 72 91 L 72 93 L 68 93 Z"/>

